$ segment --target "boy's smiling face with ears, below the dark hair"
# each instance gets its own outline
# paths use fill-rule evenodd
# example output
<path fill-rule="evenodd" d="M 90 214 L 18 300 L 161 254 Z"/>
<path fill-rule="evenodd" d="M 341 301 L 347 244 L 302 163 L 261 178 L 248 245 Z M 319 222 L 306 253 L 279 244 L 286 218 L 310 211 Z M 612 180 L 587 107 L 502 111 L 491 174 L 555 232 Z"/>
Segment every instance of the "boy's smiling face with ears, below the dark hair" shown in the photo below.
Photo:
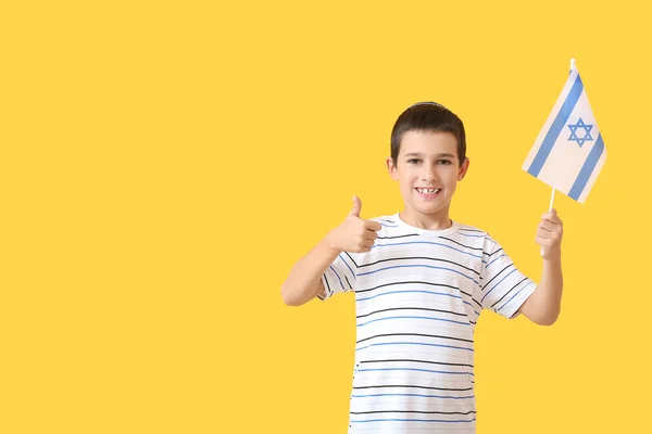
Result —
<path fill-rule="evenodd" d="M 401 139 L 396 164 L 388 157 L 387 168 L 391 178 L 399 181 L 408 213 L 443 221 L 449 218 L 457 181 L 468 169 L 468 158 L 460 166 L 457 139 L 450 132 L 408 131 Z"/>

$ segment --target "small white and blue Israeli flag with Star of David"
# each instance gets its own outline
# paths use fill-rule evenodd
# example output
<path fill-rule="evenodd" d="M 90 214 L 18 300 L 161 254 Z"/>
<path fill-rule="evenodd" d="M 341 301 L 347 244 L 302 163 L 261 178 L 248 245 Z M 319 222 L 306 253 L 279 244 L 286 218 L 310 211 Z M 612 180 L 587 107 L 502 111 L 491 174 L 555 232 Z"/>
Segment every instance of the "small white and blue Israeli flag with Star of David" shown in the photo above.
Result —
<path fill-rule="evenodd" d="M 523 169 L 584 204 L 605 159 L 602 135 L 573 60 L 562 94 Z"/>

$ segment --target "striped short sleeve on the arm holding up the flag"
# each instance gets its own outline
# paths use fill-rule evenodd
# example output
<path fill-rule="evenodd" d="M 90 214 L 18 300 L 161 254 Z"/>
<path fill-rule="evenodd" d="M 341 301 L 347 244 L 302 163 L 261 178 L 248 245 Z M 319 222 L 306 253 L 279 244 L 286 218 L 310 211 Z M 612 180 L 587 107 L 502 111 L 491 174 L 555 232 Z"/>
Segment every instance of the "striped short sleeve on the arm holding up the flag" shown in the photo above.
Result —
<path fill-rule="evenodd" d="M 516 318 L 537 283 L 522 273 L 503 247 L 491 237 L 485 239 L 480 272 L 480 305 L 507 319 Z"/>

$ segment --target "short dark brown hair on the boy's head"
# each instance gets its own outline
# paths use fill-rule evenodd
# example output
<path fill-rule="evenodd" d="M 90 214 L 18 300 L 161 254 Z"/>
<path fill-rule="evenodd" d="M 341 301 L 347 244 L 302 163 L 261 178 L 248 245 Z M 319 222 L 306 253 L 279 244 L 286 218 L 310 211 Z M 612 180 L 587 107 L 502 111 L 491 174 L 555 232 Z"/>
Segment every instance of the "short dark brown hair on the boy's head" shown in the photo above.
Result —
<path fill-rule="evenodd" d="M 408 131 L 450 132 L 457 139 L 460 165 L 466 158 L 466 135 L 464 124 L 450 110 L 436 102 L 417 102 L 409 106 L 397 119 L 391 129 L 391 159 L 398 163 L 401 139 Z"/>

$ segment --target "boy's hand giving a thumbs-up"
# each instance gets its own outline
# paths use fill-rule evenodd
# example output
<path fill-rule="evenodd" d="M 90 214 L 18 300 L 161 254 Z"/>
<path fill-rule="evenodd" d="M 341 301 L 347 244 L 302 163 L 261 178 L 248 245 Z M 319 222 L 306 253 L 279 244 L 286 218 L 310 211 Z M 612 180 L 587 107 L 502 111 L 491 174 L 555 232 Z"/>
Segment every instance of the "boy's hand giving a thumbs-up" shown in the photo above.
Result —
<path fill-rule="evenodd" d="M 365 253 L 372 250 L 374 241 L 378 238 L 376 231 L 380 224 L 360 218 L 362 202 L 353 196 L 353 208 L 340 226 L 328 233 L 328 245 L 340 252 Z"/>

